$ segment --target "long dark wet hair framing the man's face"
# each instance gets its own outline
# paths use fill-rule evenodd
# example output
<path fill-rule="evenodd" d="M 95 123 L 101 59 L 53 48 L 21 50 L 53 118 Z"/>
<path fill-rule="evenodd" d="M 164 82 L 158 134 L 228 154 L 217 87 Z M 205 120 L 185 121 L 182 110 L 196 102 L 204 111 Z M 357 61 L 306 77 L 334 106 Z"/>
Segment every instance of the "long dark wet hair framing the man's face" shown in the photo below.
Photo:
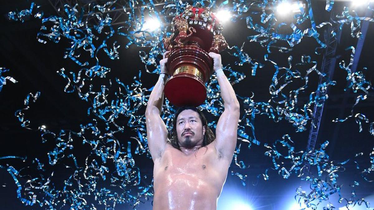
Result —
<path fill-rule="evenodd" d="M 171 143 L 171 145 L 174 147 L 174 148 L 177 148 L 180 150 L 180 146 L 179 146 L 179 143 L 178 143 L 178 135 L 177 135 L 177 118 L 178 118 L 178 115 L 186 110 L 186 109 L 191 109 L 192 111 L 195 111 L 197 112 L 197 114 L 199 114 L 199 117 L 200 117 L 200 120 L 203 124 L 203 126 L 205 126 L 205 134 L 203 136 L 203 145 L 202 146 L 206 146 L 208 145 L 209 143 L 213 142 L 214 139 L 215 139 L 215 135 L 214 133 L 212 132 L 212 130 L 209 128 L 208 126 L 208 122 L 206 121 L 206 118 L 203 114 L 202 111 L 200 111 L 199 109 L 197 109 L 196 107 L 194 106 L 182 106 L 178 109 L 177 112 L 175 112 L 175 115 L 174 115 L 174 119 L 173 119 L 173 128 L 172 130 L 168 133 L 168 139 L 169 139 L 169 142 Z"/>

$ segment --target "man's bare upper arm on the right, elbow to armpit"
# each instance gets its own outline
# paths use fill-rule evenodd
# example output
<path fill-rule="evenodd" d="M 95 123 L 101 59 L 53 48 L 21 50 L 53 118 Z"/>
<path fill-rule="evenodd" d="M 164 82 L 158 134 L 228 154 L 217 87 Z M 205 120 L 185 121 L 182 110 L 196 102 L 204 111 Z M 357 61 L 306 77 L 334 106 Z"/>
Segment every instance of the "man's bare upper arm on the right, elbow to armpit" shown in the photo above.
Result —
<path fill-rule="evenodd" d="M 218 155 L 232 159 L 237 140 L 239 111 L 225 110 L 217 123 L 215 147 Z"/>

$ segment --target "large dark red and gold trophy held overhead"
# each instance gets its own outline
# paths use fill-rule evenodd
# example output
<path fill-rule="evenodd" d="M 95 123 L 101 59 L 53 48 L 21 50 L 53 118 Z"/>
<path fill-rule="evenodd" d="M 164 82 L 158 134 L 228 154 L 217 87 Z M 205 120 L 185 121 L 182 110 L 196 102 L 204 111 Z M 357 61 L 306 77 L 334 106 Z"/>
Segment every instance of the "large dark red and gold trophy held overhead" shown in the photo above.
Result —
<path fill-rule="evenodd" d="M 205 83 L 213 72 L 213 59 L 208 53 L 228 47 L 222 23 L 209 8 L 187 6 L 174 17 L 171 29 L 172 34 L 163 39 L 165 49 L 170 51 L 166 68 L 171 75 L 165 84 L 165 96 L 175 106 L 199 106 L 206 99 Z"/>

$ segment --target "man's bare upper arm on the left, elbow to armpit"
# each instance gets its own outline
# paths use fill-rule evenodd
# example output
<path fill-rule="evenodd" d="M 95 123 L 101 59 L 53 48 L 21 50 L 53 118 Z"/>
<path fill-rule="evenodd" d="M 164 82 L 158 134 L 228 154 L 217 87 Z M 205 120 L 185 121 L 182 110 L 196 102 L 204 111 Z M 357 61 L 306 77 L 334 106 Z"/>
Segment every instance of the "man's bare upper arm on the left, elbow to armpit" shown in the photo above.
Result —
<path fill-rule="evenodd" d="M 158 114 L 145 116 L 147 127 L 148 148 L 153 160 L 159 158 L 165 149 L 168 140 L 168 130 Z"/>

